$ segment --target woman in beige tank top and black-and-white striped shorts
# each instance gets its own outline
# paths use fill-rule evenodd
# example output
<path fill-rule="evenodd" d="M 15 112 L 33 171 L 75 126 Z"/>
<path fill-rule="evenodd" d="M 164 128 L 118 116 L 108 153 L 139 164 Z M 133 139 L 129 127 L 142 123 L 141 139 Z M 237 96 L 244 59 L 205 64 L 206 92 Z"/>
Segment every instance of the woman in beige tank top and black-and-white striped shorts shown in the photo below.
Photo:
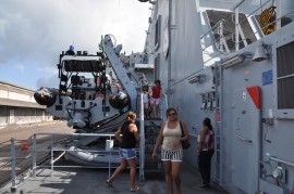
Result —
<path fill-rule="evenodd" d="M 161 146 L 161 160 L 166 170 L 166 184 L 173 194 L 173 182 L 175 183 L 176 193 L 181 194 L 181 164 L 183 158 L 182 141 L 189 139 L 185 124 L 177 120 L 176 109 L 171 107 L 167 109 L 168 120 L 162 124 L 159 135 L 156 141 L 152 157 L 157 157 L 157 150 Z M 182 135 L 182 129 L 184 137 Z"/>

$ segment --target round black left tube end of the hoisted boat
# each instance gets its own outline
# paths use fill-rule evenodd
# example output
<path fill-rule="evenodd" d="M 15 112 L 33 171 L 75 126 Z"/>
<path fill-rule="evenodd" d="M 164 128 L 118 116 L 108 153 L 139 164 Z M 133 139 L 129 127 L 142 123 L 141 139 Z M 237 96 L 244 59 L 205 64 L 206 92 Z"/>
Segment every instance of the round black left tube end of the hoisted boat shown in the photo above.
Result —
<path fill-rule="evenodd" d="M 57 100 L 58 90 L 53 88 L 41 87 L 34 93 L 36 102 L 40 105 L 46 105 L 47 107 L 52 106 Z"/>

